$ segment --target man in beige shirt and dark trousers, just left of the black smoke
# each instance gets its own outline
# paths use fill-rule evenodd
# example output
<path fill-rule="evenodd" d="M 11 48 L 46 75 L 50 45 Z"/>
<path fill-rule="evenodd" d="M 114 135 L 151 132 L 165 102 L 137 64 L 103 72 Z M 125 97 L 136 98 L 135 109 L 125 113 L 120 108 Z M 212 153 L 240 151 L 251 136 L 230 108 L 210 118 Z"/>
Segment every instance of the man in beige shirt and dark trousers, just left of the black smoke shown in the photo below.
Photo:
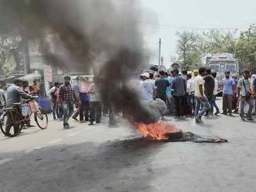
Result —
<path fill-rule="evenodd" d="M 93 83 L 90 84 L 89 87 L 90 94 L 90 124 L 93 125 L 93 122 L 96 120 L 96 123 L 100 123 L 100 118 L 102 115 L 102 107 L 100 103 L 100 95 L 99 90 L 95 81 L 95 77 L 93 77 Z"/>

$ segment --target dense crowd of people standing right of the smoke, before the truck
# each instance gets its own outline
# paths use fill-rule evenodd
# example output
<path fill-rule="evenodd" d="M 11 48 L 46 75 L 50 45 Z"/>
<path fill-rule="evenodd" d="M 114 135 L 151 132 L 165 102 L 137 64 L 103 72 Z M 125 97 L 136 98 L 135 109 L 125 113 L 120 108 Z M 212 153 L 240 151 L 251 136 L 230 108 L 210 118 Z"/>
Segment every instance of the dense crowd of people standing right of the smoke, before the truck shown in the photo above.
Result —
<path fill-rule="evenodd" d="M 221 83 L 216 76 L 216 72 L 204 67 L 189 73 L 179 72 L 178 69 L 171 72 L 159 71 L 156 75 L 145 73 L 141 75 L 140 90 L 143 100 L 163 100 L 167 107 L 166 115 L 173 115 L 179 120 L 195 117 L 196 124 L 202 124 L 202 116 L 221 113 L 216 104 L 221 84 L 221 114 L 239 113 L 242 120 L 253 120 L 256 78 L 253 78 L 248 70 L 244 70 L 240 78 L 231 77 L 230 72 L 226 71 L 225 77 L 220 79 Z"/>

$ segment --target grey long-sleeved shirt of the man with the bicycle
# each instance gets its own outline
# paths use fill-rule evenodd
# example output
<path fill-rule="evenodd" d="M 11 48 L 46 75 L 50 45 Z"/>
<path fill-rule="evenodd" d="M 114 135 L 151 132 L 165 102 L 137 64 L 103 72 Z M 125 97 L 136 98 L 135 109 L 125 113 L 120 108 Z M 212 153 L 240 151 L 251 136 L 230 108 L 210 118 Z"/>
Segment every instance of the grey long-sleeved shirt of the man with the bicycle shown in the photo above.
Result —
<path fill-rule="evenodd" d="M 6 108 L 12 107 L 13 103 L 21 102 L 21 99 L 31 99 L 31 95 L 25 93 L 22 88 L 15 84 L 8 87 Z"/>

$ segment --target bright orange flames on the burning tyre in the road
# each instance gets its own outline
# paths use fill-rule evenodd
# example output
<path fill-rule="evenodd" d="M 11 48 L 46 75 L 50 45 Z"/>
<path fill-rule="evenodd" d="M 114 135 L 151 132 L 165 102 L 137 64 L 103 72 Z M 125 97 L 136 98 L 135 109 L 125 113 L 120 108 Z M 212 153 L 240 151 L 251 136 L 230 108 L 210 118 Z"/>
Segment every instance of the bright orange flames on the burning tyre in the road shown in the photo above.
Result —
<path fill-rule="evenodd" d="M 143 133 L 145 137 L 153 138 L 154 140 L 168 140 L 165 134 L 180 132 L 180 129 L 175 128 L 173 124 L 163 124 L 156 122 L 154 124 L 138 124 L 138 130 Z"/>

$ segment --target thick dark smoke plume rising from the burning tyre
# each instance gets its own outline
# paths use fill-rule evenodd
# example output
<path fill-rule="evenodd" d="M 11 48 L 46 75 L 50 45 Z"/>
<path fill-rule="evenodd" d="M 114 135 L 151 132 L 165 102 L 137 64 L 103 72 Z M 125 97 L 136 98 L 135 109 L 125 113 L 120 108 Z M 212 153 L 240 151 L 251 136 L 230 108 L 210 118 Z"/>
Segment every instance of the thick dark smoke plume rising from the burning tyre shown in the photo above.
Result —
<path fill-rule="evenodd" d="M 84 72 L 93 69 L 102 102 L 136 122 L 156 121 L 130 81 L 144 58 L 136 22 L 141 17 L 138 1 L 0 2 L 0 33 L 16 31 L 22 38 L 40 39 L 40 51 L 52 65 Z"/>

